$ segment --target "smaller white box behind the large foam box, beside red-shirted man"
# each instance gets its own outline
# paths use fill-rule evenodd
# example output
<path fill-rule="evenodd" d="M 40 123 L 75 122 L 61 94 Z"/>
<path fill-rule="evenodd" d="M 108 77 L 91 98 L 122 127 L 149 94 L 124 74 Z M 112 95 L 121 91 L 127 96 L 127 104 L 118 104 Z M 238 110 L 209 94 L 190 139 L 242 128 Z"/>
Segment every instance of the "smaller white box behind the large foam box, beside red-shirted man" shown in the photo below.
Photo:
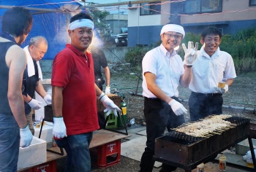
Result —
<path fill-rule="evenodd" d="M 36 126 L 34 126 L 34 136 L 36 136 L 37 138 L 39 137 L 40 128 L 41 126 L 39 128 L 36 128 Z M 40 138 L 46 142 L 53 141 L 53 123 L 52 122 L 47 122 L 47 124 L 42 125 L 42 132 L 41 132 Z"/>

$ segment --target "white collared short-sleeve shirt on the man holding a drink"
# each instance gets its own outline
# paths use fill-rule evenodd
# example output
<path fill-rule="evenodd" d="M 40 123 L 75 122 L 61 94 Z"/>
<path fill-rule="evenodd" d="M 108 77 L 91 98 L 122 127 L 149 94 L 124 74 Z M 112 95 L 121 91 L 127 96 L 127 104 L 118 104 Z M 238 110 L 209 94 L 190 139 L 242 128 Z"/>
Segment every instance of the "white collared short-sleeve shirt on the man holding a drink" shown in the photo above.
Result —
<path fill-rule="evenodd" d="M 214 93 L 214 87 L 218 87 L 223 78 L 236 78 L 231 55 L 218 48 L 210 57 L 202 47 L 192 66 L 189 89 L 195 93 Z"/>

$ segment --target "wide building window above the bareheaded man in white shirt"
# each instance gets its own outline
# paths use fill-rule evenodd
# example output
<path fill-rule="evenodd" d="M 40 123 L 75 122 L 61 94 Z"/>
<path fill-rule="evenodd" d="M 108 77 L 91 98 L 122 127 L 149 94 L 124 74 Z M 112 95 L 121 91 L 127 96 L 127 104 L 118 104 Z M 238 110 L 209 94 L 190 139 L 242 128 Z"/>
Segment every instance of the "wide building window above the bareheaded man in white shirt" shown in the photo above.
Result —
<path fill-rule="evenodd" d="M 222 0 L 188 0 L 184 2 L 183 12 L 184 14 L 222 12 Z"/>

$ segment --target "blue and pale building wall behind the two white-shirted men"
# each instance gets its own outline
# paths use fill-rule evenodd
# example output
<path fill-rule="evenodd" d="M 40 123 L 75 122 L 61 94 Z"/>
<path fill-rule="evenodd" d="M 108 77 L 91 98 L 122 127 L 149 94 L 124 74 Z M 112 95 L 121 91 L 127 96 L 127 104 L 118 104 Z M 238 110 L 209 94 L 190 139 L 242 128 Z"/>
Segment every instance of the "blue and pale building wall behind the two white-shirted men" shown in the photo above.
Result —
<path fill-rule="evenodd" d="M 159 32 L 166 23 L 181 24 L 186 32 L 195 34 L 200 34 L 208 26 L 222 28 L 223 34 L 235 34 L 244 28 L 256 28 L 256 6 L 249 7 L 249 0 L 222 0 L 220 13 L 178 15 L 182 14 L 182 3 L 184 1 L 163 4 L 161 15 L 140 16 L 139 9 L 130 9 L 128 47 L 136 44 L 156 44 L 160 40 Z"/>

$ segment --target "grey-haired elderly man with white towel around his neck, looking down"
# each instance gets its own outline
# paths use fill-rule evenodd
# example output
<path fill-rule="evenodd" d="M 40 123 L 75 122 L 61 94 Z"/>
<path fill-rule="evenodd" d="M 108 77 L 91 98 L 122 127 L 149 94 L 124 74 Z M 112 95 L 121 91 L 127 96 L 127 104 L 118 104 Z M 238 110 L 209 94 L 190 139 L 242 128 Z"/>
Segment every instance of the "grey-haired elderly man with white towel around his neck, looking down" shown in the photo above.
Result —
<path fill-rule="evenodd" d="M 42 71 L 39 65 L 39 60 L 42 60 L 48 50 L 48 42 L 44 36 L 34 36 L 30 39 L 29 45 L 24 47 L 23 50 L 26 52 L 27 60 L 26 71 L 23 76 L 23 83 L 26 82 L 26 84 L 23 84 L 26 85 L 26 89 L 23 89 L 23 99 L 29 130 L 34 135 L 32 120 L 34 112 L 31 109 L 40 109 L 40 104 L 42 104 L 42 102 L 34 99 L 35 91 L 44 98 L 47 104 L 51 104 L 51 96 L 46 93 L 42 86 Z"/>

